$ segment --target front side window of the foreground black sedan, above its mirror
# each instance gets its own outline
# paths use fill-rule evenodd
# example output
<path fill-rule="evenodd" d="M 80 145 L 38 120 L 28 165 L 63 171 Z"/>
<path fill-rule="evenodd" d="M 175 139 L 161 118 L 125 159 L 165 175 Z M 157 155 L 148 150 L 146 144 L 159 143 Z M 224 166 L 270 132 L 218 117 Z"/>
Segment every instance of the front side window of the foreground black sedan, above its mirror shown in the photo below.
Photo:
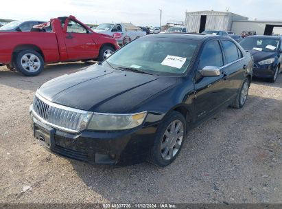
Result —
<path fill-rule="evenodd" d="M 218 41 L 209 41 L 204 45 L 198 69 L 203 69 L 206 66 L 223 66 L 222 50 Z"/>

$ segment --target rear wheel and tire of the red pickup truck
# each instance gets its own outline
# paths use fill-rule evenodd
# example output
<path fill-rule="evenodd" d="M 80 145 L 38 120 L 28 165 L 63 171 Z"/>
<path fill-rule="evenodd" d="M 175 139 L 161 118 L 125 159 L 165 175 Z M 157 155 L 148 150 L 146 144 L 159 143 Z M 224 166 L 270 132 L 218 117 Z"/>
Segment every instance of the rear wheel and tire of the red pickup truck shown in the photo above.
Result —
<path fill-rule="evenodd" d="M 44 61 L 38 52 L 23 50 L 16 54 L 14 65 L 16 70 L 25 76 L 37 76 L 43 70 Z"/>

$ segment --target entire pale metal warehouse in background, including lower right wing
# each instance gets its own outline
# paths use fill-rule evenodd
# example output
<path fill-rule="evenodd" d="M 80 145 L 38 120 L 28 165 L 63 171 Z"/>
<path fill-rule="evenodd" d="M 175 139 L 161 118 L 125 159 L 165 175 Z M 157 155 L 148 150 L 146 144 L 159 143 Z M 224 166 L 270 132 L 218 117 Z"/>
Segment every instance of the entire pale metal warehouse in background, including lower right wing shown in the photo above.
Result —
<path fill-rule="evenodd" d="M 186 12 L 185 26 L 189 32 L 224 30 L 241 34 L 243 31 L 258 35 L 282 34 L 282 21 L 249 21 L 232 12 L 200 11 Z"/>

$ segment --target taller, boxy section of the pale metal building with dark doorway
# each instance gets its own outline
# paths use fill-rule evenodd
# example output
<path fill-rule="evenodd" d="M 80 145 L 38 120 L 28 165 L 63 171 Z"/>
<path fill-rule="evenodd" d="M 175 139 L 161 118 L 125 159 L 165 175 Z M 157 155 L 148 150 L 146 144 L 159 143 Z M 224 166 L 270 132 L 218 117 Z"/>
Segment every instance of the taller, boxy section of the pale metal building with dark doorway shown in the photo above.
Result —
<path fill-rule="evenodd" d="M 186 12 L 185 26 L 189 32 L 224 30 L 232 28 L 233 21 L 248 21 L 248 17 L 232 12 L 200 11 Z"/>

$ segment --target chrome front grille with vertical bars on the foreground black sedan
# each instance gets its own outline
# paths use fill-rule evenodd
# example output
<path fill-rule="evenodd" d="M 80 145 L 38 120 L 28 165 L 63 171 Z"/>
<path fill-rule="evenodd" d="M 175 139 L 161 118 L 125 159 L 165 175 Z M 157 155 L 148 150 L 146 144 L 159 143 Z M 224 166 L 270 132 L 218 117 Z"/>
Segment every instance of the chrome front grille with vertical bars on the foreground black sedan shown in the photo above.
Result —
<path fill-rule="evenodd" d="M 34 97 L 33 112 L 39 120 L 63 131 L 77 133 L 86 128 L 92 113 L 65 107 L 45 100 L 38 94 Z"/>

